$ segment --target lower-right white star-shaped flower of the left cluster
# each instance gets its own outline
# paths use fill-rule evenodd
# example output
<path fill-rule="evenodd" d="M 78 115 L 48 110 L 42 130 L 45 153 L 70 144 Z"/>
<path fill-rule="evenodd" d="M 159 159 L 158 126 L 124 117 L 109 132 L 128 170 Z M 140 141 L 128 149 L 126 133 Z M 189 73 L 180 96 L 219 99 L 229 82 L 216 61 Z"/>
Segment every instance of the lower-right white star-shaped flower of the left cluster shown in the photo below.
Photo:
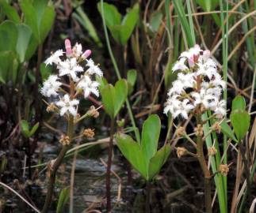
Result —
<path fill-rule="evenodd" d="M 99 83 L 97 81 L 93 81 L 90 79 L 89 76 L 85 75 L 82 77 L 82 80 L 79 81 L 77 88 L 82 88 L 85 99 L 90 95 L 90 93 L 93 93 L 97 97 L 99 96 L 98 92 L 98 86 Z"/>

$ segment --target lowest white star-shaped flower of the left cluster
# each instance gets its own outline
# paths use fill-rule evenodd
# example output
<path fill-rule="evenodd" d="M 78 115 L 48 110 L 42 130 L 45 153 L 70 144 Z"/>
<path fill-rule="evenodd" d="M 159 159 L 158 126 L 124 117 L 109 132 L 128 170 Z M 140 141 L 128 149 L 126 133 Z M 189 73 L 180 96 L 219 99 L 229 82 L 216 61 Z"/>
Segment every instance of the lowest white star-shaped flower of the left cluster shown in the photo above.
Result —
<path fill-rule="evenodd" d="M 60 107 L 59 114 L 63 116 L 65 113 L 72 114 L 76 116 L 77 110 L 76 106 L 78 106 L 79 101 L 78 99 L 71 99 L 69 95 L 64 95 L 62 99 L 60 99 L 56 106 Z"/>

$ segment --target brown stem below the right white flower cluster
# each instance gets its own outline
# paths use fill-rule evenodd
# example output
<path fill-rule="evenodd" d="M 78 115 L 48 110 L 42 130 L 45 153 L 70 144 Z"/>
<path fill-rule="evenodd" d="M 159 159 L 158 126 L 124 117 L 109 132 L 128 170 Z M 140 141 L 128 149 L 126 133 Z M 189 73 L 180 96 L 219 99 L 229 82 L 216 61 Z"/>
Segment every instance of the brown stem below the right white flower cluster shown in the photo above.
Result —
<path fill-rule="evenodd" d="M 197 114 L 197 125 L 203 125 L 201 114 Z M 204 172 L 204 202 L 206 213 L 212 213 L 212 196 L 211 196 L 211 173 L 208 170 L 207 163 L 204 159 L 204 140 L 202 136 L 197 136 L 197 159 L 201 169 Z"/>

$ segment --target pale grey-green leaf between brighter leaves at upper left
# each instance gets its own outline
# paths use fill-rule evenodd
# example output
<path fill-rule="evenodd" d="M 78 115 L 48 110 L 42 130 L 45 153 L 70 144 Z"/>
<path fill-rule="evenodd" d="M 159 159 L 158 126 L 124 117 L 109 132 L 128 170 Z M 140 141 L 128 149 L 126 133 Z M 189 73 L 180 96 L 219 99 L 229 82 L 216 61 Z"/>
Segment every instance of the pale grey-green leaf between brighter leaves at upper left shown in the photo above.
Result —
<path fill-rule="evenodd" d="M 17 32 L 18 32 L 18 38 L 17 38 L 16 51 L 19 56 L 19 60 L 22 63 L 25 61 L 25 54 L 29 47 L 29 40 L 32 36 L 32 31 L 29 28 L 29 26 L 25 24 L 17 24 Z"/>

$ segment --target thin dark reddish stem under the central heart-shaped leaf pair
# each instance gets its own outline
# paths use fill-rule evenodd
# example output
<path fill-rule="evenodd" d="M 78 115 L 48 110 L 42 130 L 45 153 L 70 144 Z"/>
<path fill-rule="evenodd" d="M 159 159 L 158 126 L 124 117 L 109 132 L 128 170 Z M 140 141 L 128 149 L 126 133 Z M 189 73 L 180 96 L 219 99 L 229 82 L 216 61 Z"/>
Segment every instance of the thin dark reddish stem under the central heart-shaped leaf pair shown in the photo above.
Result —
<path fill-rule="evenodd" d="M 115 119 L 111 118 L 110 139 L 109 139 L 109 159 L 108 159 L 108 166 L 107 166 L 107 172 L 106 172 L 106 177 L 105 177 L 105 192 L 106 192 L 106 198 L 107 198 L 107 212 L 108 213 L 111 212 L 110 172 L 111 172 L 111 165 L 112 165 L 114 125 L 115 125 Z"/>

